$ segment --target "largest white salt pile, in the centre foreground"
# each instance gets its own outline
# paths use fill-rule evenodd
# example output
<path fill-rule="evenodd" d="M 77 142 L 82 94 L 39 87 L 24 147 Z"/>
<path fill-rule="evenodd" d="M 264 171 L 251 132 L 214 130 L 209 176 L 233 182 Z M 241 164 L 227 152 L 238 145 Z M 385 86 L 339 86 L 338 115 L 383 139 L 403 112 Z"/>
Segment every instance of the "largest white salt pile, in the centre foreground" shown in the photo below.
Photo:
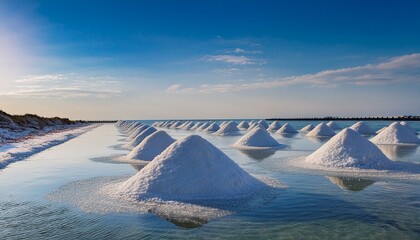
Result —
<path fill-rule="evenodd" d="M 170 145 L 117 191 L 138 200 L 210 200 L 249 196 L 265 186 L 211 143 L 192 135 Z"/>

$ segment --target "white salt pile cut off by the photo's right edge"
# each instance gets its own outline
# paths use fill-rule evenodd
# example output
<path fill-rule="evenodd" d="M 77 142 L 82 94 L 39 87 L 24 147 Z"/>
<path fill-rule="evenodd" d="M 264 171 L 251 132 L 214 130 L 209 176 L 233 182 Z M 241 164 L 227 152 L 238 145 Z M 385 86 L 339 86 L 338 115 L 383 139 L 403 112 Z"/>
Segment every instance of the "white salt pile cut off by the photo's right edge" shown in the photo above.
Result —
<path fill-rule="evenodd" d="M 375 144 L 420 144 L 416 134 L 398 122 L 389 125 L 371 141 Z"/>

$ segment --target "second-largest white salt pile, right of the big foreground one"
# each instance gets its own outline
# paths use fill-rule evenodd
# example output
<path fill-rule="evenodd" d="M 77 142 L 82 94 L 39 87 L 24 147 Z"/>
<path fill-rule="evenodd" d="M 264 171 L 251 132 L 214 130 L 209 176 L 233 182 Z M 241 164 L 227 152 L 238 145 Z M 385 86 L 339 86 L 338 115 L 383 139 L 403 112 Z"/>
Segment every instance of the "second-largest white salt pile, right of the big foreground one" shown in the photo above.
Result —
<path fill-rule="evenodd" d="M 331 138 L 305 161 L 333 168 L 384 169 L 391 164 L 375 144 L 349 128 Z"/>

